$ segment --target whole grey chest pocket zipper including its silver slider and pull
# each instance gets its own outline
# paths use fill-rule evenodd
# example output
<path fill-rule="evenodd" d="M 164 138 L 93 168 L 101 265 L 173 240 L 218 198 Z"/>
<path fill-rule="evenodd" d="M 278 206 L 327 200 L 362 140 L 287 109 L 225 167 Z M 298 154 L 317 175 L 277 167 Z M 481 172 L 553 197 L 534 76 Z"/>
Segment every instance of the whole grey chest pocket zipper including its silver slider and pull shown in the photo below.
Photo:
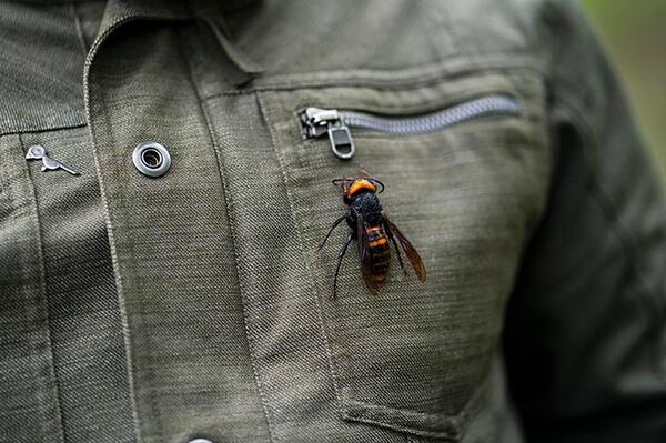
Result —
<path fill-rule="evenodd" d="M 301 123 L 304 138 L 315 139 L 327 134 L 335 157 L 349 160 L 356 152 L 350 128 L 393 135 L 418 135 L 441 131 L 482 117 L 518 115 L 521 111 L 521 103 L 514 97 L 491 94 L 412 117 L 307 108 L 301 113 Z"/>

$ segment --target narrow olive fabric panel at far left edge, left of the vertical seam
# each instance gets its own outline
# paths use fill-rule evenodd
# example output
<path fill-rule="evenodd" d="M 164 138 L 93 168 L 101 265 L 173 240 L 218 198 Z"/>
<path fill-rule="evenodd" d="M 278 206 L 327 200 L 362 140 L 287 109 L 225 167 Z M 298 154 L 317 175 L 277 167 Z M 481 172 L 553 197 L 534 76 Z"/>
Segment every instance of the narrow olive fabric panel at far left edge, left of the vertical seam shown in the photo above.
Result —
<path fill-rule="evenodd" d="M 62 441 L 34 190 L 18 135 L 2 150 L 2 440 Z"/>

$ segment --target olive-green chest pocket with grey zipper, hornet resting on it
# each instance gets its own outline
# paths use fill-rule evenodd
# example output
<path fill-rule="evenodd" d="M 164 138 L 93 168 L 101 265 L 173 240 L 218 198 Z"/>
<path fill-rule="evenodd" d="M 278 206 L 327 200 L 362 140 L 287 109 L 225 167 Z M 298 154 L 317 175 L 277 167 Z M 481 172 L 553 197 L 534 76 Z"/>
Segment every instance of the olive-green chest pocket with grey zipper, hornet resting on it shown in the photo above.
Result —
<path fill-rule="evenodd" d="M 541 80 L 484 73 L 392 90 L 266 91 L 260 104 L 324 314 L 342 416 L 462 439 L 486 402 L 504 306 L 545 204 Z M 427 281 L 404 278 L 393 250 L 372 296 L 351 246 L 331 301 L 349 229 L 334 231 L 321 256 L 315 250 L 346 211 L 331 180 L 360 167 L 385 184 L 382 207 Z"/>

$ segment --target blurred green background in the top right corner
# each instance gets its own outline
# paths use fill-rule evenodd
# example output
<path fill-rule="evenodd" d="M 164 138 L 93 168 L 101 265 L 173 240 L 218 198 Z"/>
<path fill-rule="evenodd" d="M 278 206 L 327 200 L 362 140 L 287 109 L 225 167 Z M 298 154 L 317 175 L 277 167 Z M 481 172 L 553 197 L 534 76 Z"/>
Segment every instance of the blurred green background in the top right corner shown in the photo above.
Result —
<path fill-rule="evenodd" d="M 666 183 L 666 0 L 583 0 Z"/>

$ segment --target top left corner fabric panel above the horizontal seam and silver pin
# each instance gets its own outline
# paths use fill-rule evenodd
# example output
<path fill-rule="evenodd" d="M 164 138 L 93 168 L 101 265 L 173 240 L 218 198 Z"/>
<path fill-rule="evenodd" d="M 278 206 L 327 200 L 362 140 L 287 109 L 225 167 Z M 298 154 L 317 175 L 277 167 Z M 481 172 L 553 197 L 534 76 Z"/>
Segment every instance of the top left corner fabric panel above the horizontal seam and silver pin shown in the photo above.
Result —
<path fill-rule="evenodd" d="M 3 2 L 0 41 L 0 133 L 85 124 L 85 52 L 70 6 Z"/>

